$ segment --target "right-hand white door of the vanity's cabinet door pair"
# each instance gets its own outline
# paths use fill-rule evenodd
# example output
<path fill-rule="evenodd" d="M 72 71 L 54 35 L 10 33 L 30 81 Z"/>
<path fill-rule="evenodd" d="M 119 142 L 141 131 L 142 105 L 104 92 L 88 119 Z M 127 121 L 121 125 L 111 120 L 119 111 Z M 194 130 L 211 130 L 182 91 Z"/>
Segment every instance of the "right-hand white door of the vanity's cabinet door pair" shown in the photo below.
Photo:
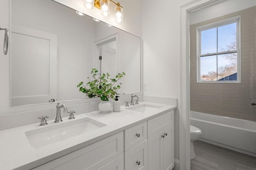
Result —
<path fill-rule="evenodd" d="M 163 129 L 163 169 L 174 167 L 174 123 Z"/>

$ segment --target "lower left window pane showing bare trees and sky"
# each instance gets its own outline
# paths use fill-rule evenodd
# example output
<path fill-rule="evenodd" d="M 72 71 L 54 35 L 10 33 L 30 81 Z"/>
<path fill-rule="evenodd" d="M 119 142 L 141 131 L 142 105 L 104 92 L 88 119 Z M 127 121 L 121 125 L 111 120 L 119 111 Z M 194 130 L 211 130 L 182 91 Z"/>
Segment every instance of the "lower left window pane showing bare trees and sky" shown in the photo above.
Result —
<path fill-rule="evenodd" d="M 217 80 L 217 60 L 216 55 L 200 57 L 200 80 Z"/>

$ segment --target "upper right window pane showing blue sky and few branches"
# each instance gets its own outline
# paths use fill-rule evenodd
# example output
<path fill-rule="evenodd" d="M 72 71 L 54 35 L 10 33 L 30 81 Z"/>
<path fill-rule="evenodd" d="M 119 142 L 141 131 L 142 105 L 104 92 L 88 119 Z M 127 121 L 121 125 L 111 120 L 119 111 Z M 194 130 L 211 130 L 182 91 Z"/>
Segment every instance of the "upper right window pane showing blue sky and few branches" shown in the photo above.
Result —
<path fill-rule="evenodd" d="M 218 27 L 218 52 L 236 50 L 236 23 Z"/>

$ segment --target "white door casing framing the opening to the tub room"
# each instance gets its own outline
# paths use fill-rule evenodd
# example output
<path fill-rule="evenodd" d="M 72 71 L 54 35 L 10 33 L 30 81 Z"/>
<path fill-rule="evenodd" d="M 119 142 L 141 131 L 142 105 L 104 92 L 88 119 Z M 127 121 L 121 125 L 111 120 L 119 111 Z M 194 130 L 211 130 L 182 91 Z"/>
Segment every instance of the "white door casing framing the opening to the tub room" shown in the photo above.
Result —
<path fill-rule="evenodd" d="M 190 65 L 189 13 L 227 0 L 193 0 L 180 7 L 180 170 L 190 170 Z"/>

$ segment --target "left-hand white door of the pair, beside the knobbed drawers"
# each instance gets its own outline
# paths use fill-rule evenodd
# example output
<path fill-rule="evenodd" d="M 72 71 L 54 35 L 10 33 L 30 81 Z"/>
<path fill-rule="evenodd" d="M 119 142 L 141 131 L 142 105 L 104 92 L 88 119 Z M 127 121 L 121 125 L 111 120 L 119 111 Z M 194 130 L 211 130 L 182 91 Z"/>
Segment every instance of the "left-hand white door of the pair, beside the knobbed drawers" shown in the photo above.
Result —
<path fill-rule="evenodd" d="M 163 131 L 148 138 L 148 170 L 163 170 Z"/>

